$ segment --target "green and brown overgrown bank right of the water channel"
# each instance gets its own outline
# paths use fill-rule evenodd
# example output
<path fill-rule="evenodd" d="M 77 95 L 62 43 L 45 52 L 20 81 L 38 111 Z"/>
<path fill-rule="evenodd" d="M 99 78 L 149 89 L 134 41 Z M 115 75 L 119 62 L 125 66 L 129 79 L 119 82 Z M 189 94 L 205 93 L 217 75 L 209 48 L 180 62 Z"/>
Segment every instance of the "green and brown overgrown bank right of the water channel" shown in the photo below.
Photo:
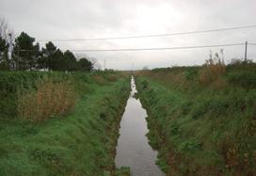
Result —
<path fill-rule="evenodd" d="M 168 175 L 256 175 L 256 67 L 224 69 L 214 78 L 205 67 L 136 76 L 148 136 Z"/>

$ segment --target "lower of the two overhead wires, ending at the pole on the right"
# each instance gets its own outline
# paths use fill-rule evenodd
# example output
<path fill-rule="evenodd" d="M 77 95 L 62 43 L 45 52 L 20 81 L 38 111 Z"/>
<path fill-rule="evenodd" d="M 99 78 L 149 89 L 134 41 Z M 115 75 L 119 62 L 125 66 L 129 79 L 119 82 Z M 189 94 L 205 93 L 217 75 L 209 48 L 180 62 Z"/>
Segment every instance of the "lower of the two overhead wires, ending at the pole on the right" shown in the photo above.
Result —
<path fill-rule="evenodd" d="M 196 49 L 196 48 L 211 48 L 220 46 L 239 46 L 245 43 L 229 43 L 229 44 L 215 44 L 215 45 L 197 45 L 197 46 L 175 46 L 175 47 L 161 47 L 161 48 L 121 48 L 121 49 L 92 49 L 92 50 L 70 50 L 72 52 L 125 52 L 125 51 L 155 51 L 155 50 L 181 50 L 181 49 Z"/>

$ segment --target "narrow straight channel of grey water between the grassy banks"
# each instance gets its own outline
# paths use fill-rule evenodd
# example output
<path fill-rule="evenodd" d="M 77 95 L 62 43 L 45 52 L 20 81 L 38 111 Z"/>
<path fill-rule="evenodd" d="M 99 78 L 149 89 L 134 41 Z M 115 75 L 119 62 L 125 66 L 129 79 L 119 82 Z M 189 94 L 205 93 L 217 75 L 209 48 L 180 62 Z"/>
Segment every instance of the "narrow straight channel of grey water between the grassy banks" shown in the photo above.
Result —
<path fill-rule="evenodd" d="M 145 136 L 147 127 L 147 112 L 134 98 L 136 85 L 131 80 L 131 94 L 127 101 L 124 114 L 120 121 L 120 138 L 117 146 L 116 166 L 130 167 L 133 176 L 165 175 L 156 165 L 156 155 Z"/>

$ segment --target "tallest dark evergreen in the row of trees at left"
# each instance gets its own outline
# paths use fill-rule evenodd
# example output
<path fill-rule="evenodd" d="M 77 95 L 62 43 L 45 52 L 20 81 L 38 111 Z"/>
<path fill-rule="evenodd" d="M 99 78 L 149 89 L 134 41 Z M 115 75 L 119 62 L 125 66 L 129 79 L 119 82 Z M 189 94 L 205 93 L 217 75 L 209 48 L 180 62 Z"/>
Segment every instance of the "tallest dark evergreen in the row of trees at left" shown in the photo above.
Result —
<path fill-rule="evenodd" d="M 12 57 L 16 70 L 36 69 L 40 56 L 40 45 L 39 43 L 34 45 L 34 41 L 34 38 L 31 38 L 24 32 L 15 39 Z"/>

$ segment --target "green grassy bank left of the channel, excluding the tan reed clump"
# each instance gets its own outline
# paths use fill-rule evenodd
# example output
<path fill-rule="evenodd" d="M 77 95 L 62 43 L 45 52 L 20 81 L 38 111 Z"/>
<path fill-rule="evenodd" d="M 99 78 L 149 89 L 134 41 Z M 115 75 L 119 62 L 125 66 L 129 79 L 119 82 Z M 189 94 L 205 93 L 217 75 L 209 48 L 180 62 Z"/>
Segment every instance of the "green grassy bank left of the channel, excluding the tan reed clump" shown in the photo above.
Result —
<path fill-rule="evenodd" d="M 2 102 L 5 111 L 1 108 L 0 175 L 115 174 L 120 117 L 130 90 L 127 76 L 117 72 L 51 73 L 61 80 L 72 80 L 76 104 L 59 117 L 31 121 L 16 112 L 8 114 L 7 109 L 15 110 L 15 93 L 21 79 L 23 88 L 37 87 L 38 78 L 50 73 L 1 72 L 1 76 L 4 74 L 8 75 L 1 81 L 14 81 L 7 84 L 12 87 L 1 87 L 1 95 L 9 104 Z"/>

